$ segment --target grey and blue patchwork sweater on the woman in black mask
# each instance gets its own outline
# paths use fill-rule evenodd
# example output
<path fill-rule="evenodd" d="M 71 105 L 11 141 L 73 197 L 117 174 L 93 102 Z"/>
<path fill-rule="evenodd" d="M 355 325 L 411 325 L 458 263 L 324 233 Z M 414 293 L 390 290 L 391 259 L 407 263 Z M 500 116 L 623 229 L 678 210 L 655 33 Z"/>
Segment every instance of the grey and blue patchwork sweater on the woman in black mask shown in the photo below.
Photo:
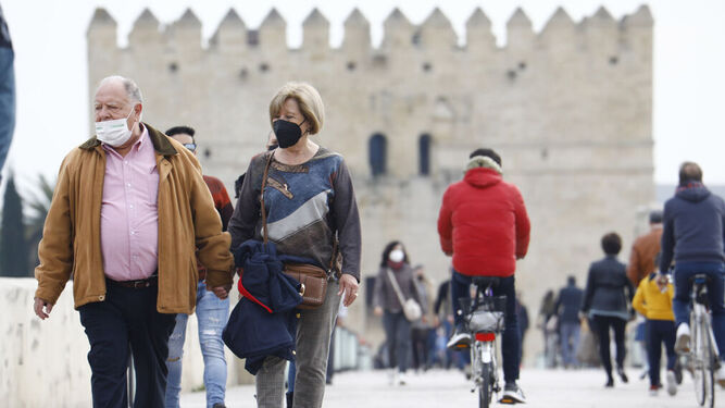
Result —
<path fill-rule="evenodd" d="M 247 239 L 262 239 L 260 194 L 270 154 L 259 154 L 249 163 L 229 221 L 233 249 Z M 270 240 L 279 254 L 308 258 L 326 270 L 337 237 L 341 272 L 360 281 L 360 215 L 352 180 L 340 154 L 321 147 L 303 164 L 287 165 L 273 159 L 264 207 Z"/>

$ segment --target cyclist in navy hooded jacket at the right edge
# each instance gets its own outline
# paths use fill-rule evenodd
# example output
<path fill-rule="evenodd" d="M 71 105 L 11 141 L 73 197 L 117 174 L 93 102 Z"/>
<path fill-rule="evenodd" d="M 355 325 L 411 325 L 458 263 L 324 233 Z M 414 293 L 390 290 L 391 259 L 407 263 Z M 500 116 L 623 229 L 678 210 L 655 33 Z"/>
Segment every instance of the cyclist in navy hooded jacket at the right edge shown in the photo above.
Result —
<path fill-rule="evenodd" d="M 662 258 L 660 271 L 668 273 L 675 260 L 675 298 L 673 310 L 677 325 L 675 350 L 689 347 L 690 277 L 705 274 L 710 277 L 708 295 L 712 311 L 712 329 L 725 358 L 725 308 L 723 307 L 723 276 L 725 275 L 725 202 L 702 184 L 702 170 L 697 163 L 685 162 L 679 168 L 679 185 L 675 196 L 664 205 Z M 725 386 L 725 364 L 716 373 L 717 382 Z"/>

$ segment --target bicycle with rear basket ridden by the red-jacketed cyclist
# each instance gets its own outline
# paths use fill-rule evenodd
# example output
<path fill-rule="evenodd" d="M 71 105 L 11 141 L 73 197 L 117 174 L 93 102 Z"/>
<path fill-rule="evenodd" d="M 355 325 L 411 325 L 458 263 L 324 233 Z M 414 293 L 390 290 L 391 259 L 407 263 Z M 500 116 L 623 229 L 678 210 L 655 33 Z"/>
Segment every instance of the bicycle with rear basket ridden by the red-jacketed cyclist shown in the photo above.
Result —
<path fill-rule="evenodd" d="M 476 294 L 473 299 L 461 299 L 465 313 L 465 325 L 471 334 L 471 364 L 475 393 L 478 390 L 478 407 L 488 408 L 493 394 L 501 392 L 497 364 L 496 338 L 504 330 L 505 296 L 493 296 L 499 277 L 479 276 L 473 279 Z M 501 400 L 513 404 L 513 400 Z"/>

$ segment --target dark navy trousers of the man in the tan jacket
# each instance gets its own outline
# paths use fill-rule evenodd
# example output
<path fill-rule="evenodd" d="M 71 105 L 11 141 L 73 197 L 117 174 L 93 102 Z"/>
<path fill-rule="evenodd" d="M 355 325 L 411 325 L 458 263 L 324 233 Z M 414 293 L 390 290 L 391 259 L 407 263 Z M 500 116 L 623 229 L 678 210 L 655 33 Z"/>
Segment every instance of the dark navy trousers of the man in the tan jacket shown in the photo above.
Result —
<path fill-rule="evenodd" d="M 93 407 L 128 406 L 129 348 L 136 372 L 134 407 L 163 407 L 168 336 L 176 314 L 157 311 L 157 285 L 135 289 L 108 282 L 105 301 L 78 308 L 90 343 L 88 362 Z"/>

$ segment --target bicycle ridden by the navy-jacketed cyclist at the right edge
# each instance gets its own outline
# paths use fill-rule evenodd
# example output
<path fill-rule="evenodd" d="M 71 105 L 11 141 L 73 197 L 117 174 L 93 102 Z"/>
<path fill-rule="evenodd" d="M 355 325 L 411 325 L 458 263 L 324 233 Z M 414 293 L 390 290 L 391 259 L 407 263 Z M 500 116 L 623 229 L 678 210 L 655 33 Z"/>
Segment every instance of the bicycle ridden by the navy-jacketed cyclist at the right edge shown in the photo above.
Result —
<path fill-rule="evenodd" d="M 697 274 L 690 279 L 690 369 L 695 383 L 695 396 L 700 406 L 715 406 L 715 372 L 720 369 L 720 353 L 712 332 L 712 317 L 708 299 L 708 282 L 705 274 Z"/>

